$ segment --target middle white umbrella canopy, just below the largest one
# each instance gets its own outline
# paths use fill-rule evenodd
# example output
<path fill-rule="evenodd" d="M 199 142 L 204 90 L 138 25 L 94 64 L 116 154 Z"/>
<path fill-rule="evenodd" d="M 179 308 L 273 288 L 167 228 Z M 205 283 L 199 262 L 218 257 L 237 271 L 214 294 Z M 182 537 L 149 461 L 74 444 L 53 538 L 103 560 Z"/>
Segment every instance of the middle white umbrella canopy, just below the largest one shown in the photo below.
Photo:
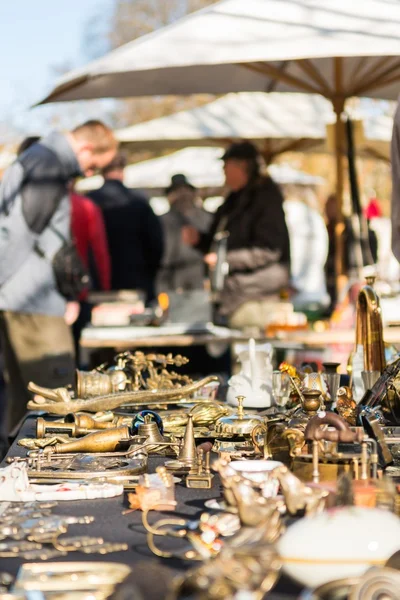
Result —
<path fill-rule="evenodd" d="M 367 115 L 366 110 L 355 113 L 357 122 L 364 118 L 362 130 L 357 128 L 357 149 L 361 154 L 388 159 L 393 121 L 386 115 Z M 333 127 L 335 120 L 332 104 L 322 96 L 242 92 L 119 129 L 116 136 L 132 152 L 226 145 L 247 139 L 258 145 L 269 162 L 283 152 L 332 151 L 326 143 L 326 126 Z"/>

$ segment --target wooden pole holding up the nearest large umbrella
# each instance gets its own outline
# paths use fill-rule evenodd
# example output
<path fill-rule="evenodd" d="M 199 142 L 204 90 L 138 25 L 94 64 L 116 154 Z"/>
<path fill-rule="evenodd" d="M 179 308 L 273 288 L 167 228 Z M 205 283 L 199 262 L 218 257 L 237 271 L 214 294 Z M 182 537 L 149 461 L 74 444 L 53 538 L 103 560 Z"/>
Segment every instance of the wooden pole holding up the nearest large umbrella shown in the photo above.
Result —
<path fill-rule="evenodd" d="M 336 161 L 336 255 L 335 255 L 335 273 L 337 298 L 340 298 L 341 291 L 346 284 L 346 274 L 344 269 L 344 219 L 343 219 L 343 124 L 341 115 L 344 110 L 345 98 L 342 92 L 343 81 L 343 61 L 342 58 L 334 58 L 335 68 L 335 95 L 332 98 L 333 109 L 336 114 L 335 122 L 335 161 Z"/>

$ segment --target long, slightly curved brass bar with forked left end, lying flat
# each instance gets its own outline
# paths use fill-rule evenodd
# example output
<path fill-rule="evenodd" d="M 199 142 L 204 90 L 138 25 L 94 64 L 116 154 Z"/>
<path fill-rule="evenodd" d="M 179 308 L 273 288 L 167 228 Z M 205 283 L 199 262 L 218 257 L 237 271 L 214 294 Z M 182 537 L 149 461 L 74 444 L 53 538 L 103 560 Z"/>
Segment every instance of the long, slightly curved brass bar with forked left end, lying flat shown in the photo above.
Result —
<path fill-rule="evenodd" d="M 122 405 L 129 406 L 155 406 L 159 404 L 184 403 L 190 402 L 195 404 L 196 399 L 190 399 L 194 392 L 207 385 L 211 381 L 219 381 L 216 376 L 204 377 L 200 381 L 183 385 L 181 387 L 173 387 L 168 389 L 145 389 L 140 391 L 126 391 L 117 394 L 108 394 L 105 396 L 97 396 L 87 400 L 72 400 L 70 394 L 65 388 L 61 388 L 67 392 L 68 399 L 65 396 L 54 393 L 55 390 L 47 388 L 39 388 L 32 382 L 28 385 L 28 389 L 35 394 L 40 394 L 45 401 L 30 400 L 28 402 L 28 410 L 44 410 L 50 414 L 66 415 L 71 412 L 100 412 L 104 410 L 114 410 Z M 40 389 L 40 391 L 39 391 Z M 204 399 L 201 400 L 204 402 Z"/>

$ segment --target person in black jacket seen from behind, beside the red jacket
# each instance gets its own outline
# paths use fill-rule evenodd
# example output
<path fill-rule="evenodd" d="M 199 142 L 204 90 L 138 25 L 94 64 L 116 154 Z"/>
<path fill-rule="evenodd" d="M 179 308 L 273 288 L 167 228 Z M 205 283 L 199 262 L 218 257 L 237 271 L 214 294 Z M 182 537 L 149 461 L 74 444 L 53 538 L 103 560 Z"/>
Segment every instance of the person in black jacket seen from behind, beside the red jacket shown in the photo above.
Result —
<path fill-rule="evenodd" d="M 126 159 L 118 154 L 102 170 L 104 184 L 88 194 L 101 208 L 111 257 L 111 289 L 136 289 L 154 300 L 155 279 L 163 254 L 159 218 L 147 199 L 123 184 Z"/>

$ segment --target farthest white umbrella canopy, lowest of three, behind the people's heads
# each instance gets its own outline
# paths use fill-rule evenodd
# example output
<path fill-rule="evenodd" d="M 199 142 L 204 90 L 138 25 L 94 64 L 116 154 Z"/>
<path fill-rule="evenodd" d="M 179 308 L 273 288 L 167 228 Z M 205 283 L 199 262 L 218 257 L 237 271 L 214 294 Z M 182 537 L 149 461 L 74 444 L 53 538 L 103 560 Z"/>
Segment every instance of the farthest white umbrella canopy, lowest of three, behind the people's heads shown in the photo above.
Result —
<path fill-rule="evenodd" d="M 125 169 L 124 182 L 130 188 L 164 189 L 171 182 L 172 175 L 184 173 L 197 188 L 220 188 L 224 185 L 225 176 L 222 148 L 185 148 L 173 154 L 153 158 L 129 165 Z M 270 165 L 271 176 L 277 183 L 295 185 L 320 185 L 322 177 L 316 177 L 297 171 L 289 165 Z M 83 179 L 78 186 L 80 191 L 93 190 L 102 185 L 100 176 Z"/>

